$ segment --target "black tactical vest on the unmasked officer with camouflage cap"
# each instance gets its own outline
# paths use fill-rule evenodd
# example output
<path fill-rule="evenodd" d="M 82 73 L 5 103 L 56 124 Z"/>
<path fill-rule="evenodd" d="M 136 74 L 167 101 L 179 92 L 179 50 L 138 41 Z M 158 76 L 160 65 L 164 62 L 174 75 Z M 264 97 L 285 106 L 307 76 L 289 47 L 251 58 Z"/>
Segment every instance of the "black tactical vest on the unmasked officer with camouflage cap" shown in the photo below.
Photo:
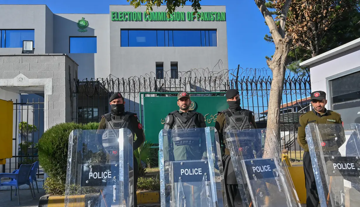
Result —
<path fill-rule="evenodd" d="M 171 137 L 176 146 L 199 144 L 201 132 L 194 130 L 198 128 L 195 123 L 198 114 L 198 112 L 191 111 L 187 117 L 183 117 L 177 110 L 169 113 L 173 118 L 170 125 L 172 126 Z"/>

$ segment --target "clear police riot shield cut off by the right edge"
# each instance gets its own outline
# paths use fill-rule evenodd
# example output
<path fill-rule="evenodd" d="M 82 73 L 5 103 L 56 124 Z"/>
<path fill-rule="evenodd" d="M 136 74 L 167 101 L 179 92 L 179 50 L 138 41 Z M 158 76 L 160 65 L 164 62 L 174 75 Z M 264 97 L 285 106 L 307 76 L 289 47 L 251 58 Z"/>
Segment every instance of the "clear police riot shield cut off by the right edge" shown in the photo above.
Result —
<path fill-rule="evenodd" d="M 359 206 L 360 124 L 310 123 L 305 132 L 321 207 Z"/>

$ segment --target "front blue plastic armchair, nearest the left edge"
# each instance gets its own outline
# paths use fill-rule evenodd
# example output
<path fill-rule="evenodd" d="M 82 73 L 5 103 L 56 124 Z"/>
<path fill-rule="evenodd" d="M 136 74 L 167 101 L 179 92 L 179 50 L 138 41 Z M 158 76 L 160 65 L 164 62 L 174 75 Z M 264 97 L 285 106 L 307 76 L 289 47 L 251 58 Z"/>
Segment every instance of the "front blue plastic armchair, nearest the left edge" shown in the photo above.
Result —
<path fill-rule="evenodd" d="M 16 190 L 18 191 L 18 203 L 20 205 L 20 185 L 29 185 L 30 187 L 30 192 L 31 192 L 31 196 L 32 199 L 34 199 L 34 196 L 32 194 L 32 189 L 31 189 L 31 183 L 30 183 L 30 171 L 32 168 L 33 164 L 28 164 L 28 165 L 20 165 L 19 171 L 18 173 L 0 173 L 0 179 L 1 178 L 12 178 L 11 181 L 9 182 L 3 182 L 1 183 L 0 181 L 0 186 L 10 186 L 10 201 L 12 201 L 12 195 L 13 195 L 13 186 L 16 188 Z"/>

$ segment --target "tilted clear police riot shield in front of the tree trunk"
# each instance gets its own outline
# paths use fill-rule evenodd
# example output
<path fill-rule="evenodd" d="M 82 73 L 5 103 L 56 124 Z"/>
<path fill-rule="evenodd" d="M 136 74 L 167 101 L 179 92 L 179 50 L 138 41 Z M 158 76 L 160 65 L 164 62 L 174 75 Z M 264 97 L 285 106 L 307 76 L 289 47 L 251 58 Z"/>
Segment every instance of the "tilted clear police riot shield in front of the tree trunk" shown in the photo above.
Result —
<path fill-rule="evenodd" d="M 232 130 L 226 133 L 226 142 L 243 207 L 301 206 L 273 133 L 266 129 Z"/>

